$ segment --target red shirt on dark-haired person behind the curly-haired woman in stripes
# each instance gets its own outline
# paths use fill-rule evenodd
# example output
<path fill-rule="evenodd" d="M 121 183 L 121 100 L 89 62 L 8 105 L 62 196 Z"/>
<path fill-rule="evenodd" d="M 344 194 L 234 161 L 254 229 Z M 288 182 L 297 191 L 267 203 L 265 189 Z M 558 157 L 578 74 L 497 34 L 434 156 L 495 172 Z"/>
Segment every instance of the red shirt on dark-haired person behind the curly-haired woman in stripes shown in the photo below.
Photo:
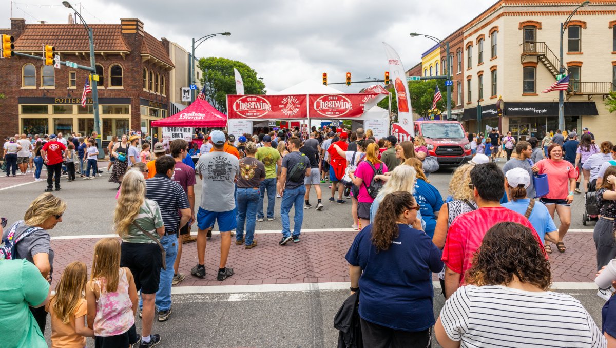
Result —
<path fill-rule="evenodd" d="M 457 216 L 447 230 L 447 240 L 442 261 L 453 272 L 460 273 L 460 286 L 464 286 L 464 274 L 471 268 L 472 257 L 481 245 L 487 232 L 498 222 L 517 222 L 528 227 L 543 249 L 543 243 L 530 222 L 517 212 L 503 207 L 479 208 Z M 544 251 L 545 254 L 545 251 Z"/>

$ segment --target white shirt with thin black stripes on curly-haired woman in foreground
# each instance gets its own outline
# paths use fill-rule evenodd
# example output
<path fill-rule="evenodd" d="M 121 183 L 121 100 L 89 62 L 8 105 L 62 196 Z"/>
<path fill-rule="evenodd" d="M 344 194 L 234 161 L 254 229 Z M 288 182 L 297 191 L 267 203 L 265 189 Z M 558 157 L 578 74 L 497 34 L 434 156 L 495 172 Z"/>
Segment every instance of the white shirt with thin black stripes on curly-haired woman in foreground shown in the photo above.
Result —
<path fill-rule="evenodd" d="M 606 347 L 580 301 L 552 291 L 501 285 L 459 288 L 440 312 L 460 347 Z"/>

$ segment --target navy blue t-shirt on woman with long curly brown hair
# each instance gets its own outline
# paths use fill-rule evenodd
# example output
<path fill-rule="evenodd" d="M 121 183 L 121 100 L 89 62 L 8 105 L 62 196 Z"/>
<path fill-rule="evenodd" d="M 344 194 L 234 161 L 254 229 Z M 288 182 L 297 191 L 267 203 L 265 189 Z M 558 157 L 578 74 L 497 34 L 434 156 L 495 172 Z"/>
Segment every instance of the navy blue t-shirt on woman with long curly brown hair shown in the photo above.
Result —
<path fill-rule="evenodd" d="M 372 225 L 355 236 L 346 254 L 362 268 L 359 315 L 394 330 L 422 331 L 434 325 L 432 272 L 443 269 L 441 251 L 426 233 L 398 224 L 399 236 L 376 252 Z"/>

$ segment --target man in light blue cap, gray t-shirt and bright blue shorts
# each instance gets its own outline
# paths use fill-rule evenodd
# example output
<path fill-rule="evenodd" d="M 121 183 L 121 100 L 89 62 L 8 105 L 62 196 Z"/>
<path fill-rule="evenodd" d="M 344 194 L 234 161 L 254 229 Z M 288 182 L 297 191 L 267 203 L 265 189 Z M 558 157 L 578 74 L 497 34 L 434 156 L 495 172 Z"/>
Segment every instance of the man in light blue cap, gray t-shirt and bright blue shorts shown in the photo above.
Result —
<path fill-rule="evenodd" d="M 199 158 L 197 169 L 202 180 L 201 203 L 197 212 L 199 232 L 197 235 L 198 264 L 190 270 L 196 277 L 205 277 L 205 249 L 207 234 L 211 225 L 217 221 L 221 230 L 221 262 L 217 280 L 225 280 L 233 275 L 233 269 L 226 267 L 231 247 L 231 230 L 237 227 L 235 208 L 235 179 L 240 172 L 237 156 L 225 152 L 229 146 L 221 131 L 211 133 L 213 149 Z M 237 149 L 235 149 L 237 152 Z"/>

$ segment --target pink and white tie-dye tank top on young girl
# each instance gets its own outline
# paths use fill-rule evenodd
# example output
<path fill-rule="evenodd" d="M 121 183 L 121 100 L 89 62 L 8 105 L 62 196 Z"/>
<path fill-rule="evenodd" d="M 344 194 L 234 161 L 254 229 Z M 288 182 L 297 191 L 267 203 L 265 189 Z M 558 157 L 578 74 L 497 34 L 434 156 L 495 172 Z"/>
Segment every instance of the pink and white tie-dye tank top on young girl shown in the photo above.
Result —
<path fill-rule="evenodd" d="M 120 269 L 118 289 L 113 293 L 105 290 L 105 280 L 95 280 L 100 289 L 100 296 L 96 301 L 96 317 L 94 318 L 95 336 L 115 336 L 125 333 L 135 323 L 132 313 L 132 301 L 128 296 L 128 279 L 126 271 Z"/>

